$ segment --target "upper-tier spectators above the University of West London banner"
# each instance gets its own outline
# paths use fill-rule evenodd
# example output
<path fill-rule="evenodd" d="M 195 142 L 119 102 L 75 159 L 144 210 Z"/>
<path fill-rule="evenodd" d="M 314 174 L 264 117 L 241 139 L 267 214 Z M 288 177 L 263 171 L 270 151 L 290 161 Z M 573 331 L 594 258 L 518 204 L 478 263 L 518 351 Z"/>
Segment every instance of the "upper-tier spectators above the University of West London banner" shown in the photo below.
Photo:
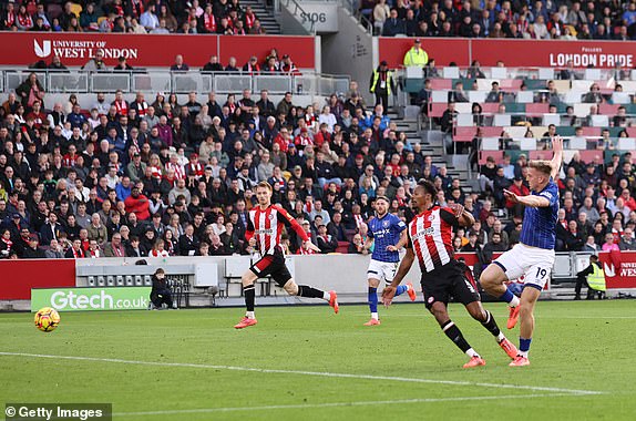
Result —
<path fill-rule="evenodd" d="M 0 30 L 115 33 L 263 34 L 238 0 L 8 0 Z"/>

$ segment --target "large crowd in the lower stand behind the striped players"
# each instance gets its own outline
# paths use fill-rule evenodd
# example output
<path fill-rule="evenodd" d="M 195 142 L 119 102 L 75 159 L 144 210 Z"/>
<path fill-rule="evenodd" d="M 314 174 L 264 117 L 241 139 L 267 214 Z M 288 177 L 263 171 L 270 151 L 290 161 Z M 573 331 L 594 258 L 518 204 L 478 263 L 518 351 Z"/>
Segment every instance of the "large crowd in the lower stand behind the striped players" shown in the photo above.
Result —
<path fill-rule="evenodd" d="M 47 104 L 37 78 L 0 106 L 3 258 L 249 254 L 261 181 L 324 253 L 363 253 L 377 195 L 409 219 L 419 177 L 445 183 L 440 199 L 459 188 L 381 105 L 367 110 L 356 82 L 309 106 L 249 90 Z"/>

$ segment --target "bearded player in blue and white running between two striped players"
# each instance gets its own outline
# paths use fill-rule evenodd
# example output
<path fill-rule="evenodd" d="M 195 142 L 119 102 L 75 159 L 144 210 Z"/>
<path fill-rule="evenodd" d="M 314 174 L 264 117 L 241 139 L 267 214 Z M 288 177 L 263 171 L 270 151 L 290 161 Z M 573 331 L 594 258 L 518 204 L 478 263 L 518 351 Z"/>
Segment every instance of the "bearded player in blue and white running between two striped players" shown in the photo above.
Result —
<path fill-rule="evenodd" d="M 376 217 L 369 222 L 369 238 L 365 243 L 367 249 L 373 246 L 373 254 L 367 270 L 371 319 L 365 326 L 380 325 L 378 287 L 382 280 L 387 285 L 391 284 L 400 261 L 399 250 L 407 244 L 407 224 L 396 215 L 389 214 L 389 205 L 387 197 L 376 198 Z M 416 300 L 416 290 L 411 283 L 397 287 L 396 296 L 404 292 L 409 294 L 411 301 Z"/>

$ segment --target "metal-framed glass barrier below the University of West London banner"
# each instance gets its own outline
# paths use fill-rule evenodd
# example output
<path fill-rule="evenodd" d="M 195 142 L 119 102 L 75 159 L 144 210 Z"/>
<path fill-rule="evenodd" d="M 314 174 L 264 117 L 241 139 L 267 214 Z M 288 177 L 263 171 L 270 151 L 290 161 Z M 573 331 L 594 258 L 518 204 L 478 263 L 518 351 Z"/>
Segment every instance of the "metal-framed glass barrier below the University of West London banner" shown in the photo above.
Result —
<path fill-rule="evenodd" d="M 81 70 L 0 70 L 0 92 L 14 91 L 35 73 L 44 91 L 51 93 L 113 93 L 131 92 L 196 92 L 207 94 L 238 93 L 244 89 L 255 92 L 268 90 L 273 94 L 295 92 L 305 95 L 330 95 L 349 89 L 350 76 L 314 72 L 301 74 L 248 74 L 243 72 L 205 73 L 148 70 L 131 72 L 84 72 Z"/>

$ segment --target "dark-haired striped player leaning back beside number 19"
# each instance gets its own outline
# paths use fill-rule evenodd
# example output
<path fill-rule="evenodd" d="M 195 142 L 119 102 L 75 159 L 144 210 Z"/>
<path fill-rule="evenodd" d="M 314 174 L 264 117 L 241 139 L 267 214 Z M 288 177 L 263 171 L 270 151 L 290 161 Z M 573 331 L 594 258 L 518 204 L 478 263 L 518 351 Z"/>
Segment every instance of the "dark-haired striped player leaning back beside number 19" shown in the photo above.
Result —
<path fill-rule="evenodd" d="M 417 257 L 422 271 L 421 285 L 425 306 L 449 339 L 471 358 L 464 368 L 485 366 L 485 361 L 472 349 L 460 329 L 450 319 L 447 306 L 451 297 L 462 302 L 469 314 L 496 338 L 507 356 L 514 359 L 516 348 L 499 329 L 492 314 L 482 307 L 476 287 L 464 275 L 465 265 L 454 258 L 453 228 L 470 227 L 474 218 L 461 205 L 438 206 L 434 203 L 438 191 L 432 183 L 424 179 L 418 182 L 412 201 L 419 214 L 408 227 L 407 254 L 400 263 L 391 286 L 384 288 L 382 292 L 384 306 L 391 304 L 396 288 Z"/>

